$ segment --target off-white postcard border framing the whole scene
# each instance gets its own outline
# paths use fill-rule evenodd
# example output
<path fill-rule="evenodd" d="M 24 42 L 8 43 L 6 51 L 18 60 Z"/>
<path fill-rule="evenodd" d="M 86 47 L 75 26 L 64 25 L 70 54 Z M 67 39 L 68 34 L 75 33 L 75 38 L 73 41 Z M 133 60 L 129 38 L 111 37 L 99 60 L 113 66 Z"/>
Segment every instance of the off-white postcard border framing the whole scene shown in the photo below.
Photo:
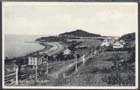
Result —
<path fill-rule="evenodd" d="M 101 2 L 2 2 L 2 87 L 4 89 L 138 89 L 138 24 L 136 32 L 136 62 L 135 62 L 135 86 L 5 86 L 4 85 L 4 7 L 3 4 L 9 5 L 94 5 L 94 4 L 116 4 L 116 3 L 101 3 Z M 119 4 L 132 4 L 117 2 Z M 138 4 L 134 3 L 137 6 Z M 137 22 L 138 22 L 138 12 L 137 12 Z"/>

